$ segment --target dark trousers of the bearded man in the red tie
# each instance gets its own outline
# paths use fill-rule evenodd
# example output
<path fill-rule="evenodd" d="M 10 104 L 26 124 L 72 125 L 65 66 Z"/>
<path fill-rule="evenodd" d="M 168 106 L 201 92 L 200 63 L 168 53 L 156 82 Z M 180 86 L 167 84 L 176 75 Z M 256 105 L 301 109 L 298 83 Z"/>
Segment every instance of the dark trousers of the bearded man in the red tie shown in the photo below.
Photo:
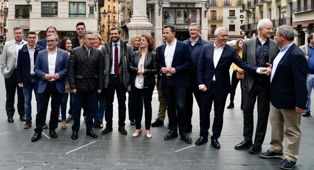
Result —
<path fill-rule="evenodd" d="M 126 88 L 120 82 L 119 76 L 114 77 L 113 75 L 109 75 L 111 83 L 108 83 L 107 86 L 107 94 L 106 94 L 106 106 L 105 106 L 105 121 L 106 126 L 112 126 L 112 117 L 113 117 L 113 100 L 114 100 L 114 92 L 117 92 L 118 98 L 118 125 L 121 127 L 125 127 L 126 123 Z"/>

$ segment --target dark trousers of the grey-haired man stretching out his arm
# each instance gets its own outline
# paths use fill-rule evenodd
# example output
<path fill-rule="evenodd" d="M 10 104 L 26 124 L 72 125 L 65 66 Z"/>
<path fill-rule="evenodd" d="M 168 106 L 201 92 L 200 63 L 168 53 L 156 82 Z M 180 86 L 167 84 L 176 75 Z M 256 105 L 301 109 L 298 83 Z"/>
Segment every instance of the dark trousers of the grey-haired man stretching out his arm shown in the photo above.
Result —
<path fill-rule="evenodd" d="M 200 136 L 208 138 L 210 127 L 210 111 L 214 103 L 214 121 L 212 124 L 211 140 L 218 139 L 221 135 L 222 125 L 224 122 L 224 109 L 228 94 L 219 94 L 216 84 L 211 84 L 208 91 L 201 92 L 200 108 Z"/>

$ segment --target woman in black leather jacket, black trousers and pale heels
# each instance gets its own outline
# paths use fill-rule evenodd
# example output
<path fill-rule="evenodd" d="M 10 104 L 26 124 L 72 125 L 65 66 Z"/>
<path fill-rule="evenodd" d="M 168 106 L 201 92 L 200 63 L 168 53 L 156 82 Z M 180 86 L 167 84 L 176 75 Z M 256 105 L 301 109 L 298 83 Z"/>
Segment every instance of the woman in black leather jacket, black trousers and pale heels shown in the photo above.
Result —
<path fill-rule="evenodd" d="M 150 131 L 152 121 L 152 96 L 156 85 L 155 75 L 158 73 L 157 55 L 153 52 L 154 40 L 150 35 L 141 36 L 141 50 L 136 51 L 131 59 L 131 92 L 134 101 L 135 132 L 133 137 L 142 134 L 141 98 L 143 95 L 145 108 L 146 137 L 152 138 Z"/>

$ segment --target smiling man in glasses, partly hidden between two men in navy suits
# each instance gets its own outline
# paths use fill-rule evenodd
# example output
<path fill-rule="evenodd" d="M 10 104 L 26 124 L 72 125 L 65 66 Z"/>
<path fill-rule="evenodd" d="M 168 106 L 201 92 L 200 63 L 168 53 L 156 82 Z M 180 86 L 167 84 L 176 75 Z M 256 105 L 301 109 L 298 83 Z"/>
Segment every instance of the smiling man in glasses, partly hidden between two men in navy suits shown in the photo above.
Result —
<path fill-rule="evenodd" d="M 192 57 L 192 67 L 188 71 L 188 79 L 190 82 L 190 86 L 185 88 L 185 108 L 186 108 L 186 132 L 192 132 L 192 114 L 193 114 L 193 94 L 196 99 L 197 105 L 200 108 L 200 90 L 198 89 L 196 73 L 197 73 L 197 65 L 198 59 L 202 52 L 203 46 L 208 44 L 207 41 L 203 40 L 200 37 L 201 27 L 196 23 L 190 24 L 189 28 L 190 38 L 186 39 L 185 43 L 187 43 L 190 47 L 191 57 Z"/>

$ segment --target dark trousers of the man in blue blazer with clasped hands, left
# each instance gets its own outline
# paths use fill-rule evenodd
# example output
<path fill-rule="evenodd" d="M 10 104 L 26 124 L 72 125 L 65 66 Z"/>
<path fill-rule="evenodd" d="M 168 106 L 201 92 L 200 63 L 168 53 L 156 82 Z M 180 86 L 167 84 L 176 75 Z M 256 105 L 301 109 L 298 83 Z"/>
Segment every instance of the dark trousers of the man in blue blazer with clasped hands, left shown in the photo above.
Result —
<path fill-rule="evenodd" d="M 39 107 L 36 114 L 36 128 L 35 133 L 41 134 L 43 126 L 46 122 L 49 99 L 51 97 L 51 113 L 49 121 L 49 131 L 54 131 L 58 127 L 58 114 L 63 97 L 63 93 L 59 93 L 55 82 L 48 82 L 43 93 L 38 93 Z"/>

